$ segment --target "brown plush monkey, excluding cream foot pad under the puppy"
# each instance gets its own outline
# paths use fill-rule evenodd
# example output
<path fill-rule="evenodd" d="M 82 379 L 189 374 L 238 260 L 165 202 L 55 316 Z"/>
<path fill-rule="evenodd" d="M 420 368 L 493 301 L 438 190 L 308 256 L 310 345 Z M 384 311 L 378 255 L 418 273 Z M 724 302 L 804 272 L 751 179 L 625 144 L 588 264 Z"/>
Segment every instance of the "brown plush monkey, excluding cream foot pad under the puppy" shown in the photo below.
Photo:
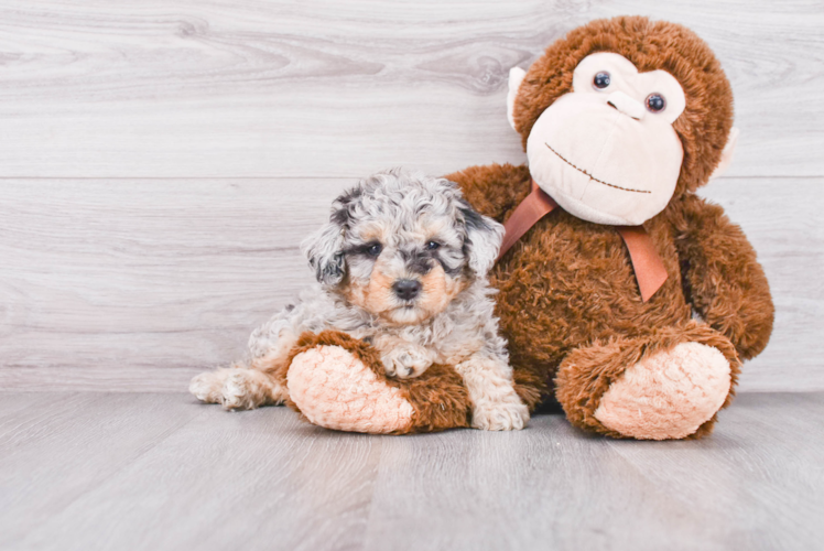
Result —
<path fill-rule="evenodd" d="M 525 74 L 513 69 L 509 106 L 529 166 L 447 177 L 507 224 L 511 249 L 491 282 L 519 395 L 531 409 L 554 396 L 573 424 L 610 436 L 709 433 L 741 360 L 765 348 L 773 321 L 752 247 L 719 206 L 695 195 L 735 145 L 717 60 L 677 24 L 594 21 Z M 335 345 L 370 364 L 362 345 Z M 370 370 L 414 411 L 393 432 L 467 424 L 471 404 L 448 368 L 403 383 Z"/>

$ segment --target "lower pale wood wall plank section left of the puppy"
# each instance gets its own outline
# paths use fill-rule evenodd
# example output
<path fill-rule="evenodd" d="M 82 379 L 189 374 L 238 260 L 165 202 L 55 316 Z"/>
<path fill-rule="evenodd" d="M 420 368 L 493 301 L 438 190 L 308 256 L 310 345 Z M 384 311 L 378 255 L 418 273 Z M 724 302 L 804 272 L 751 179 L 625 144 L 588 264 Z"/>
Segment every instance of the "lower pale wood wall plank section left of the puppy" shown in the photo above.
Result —
<path fill-rule="evenodd" d="M 354 182 L 0 184 L 0 387 L 180 390 L 239 358 Z"/>

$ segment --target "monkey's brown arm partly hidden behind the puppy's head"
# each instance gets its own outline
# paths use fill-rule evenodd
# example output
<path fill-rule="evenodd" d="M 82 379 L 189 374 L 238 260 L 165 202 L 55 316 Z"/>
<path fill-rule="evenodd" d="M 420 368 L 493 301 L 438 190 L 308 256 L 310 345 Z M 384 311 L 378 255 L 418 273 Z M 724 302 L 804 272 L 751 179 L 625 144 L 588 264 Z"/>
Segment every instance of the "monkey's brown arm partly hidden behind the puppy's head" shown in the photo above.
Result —
<path fill-rule="evenodd" d="M 514 209 L 530 192 L 529 169 L 524 165 L 469 166 L 444 177 L 460 186 L 473 208 L 498 222 L 503 222 L 505 215 Z"/>

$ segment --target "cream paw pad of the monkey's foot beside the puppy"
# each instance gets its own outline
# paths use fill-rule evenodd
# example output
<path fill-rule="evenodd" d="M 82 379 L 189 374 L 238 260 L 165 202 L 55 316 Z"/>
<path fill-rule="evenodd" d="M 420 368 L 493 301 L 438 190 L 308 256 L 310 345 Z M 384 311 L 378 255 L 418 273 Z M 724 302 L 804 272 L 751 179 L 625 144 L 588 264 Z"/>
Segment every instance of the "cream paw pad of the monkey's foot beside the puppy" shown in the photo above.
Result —
<path fill-rule="evenodd" d="M 319 426 L 389 433 L 412 422 L 414 410 L 401 391 L 340 346 L 318 346 L 295 356 L 286 386 L 301 412 Z"/>

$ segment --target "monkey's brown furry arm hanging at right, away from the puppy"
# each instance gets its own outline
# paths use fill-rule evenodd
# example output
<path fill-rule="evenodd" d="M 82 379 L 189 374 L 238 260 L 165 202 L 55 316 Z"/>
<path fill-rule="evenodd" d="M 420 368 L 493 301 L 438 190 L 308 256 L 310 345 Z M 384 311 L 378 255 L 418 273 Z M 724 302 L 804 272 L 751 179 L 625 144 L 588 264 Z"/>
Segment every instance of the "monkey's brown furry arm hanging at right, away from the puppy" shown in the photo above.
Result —
<path fill-rule="evenodd" d="M 735 345 L 741 359 L 763 350 L 774 307 L 756 251 L 724 209 L 689 195 L 673 218 L 687 300 Z"/>

